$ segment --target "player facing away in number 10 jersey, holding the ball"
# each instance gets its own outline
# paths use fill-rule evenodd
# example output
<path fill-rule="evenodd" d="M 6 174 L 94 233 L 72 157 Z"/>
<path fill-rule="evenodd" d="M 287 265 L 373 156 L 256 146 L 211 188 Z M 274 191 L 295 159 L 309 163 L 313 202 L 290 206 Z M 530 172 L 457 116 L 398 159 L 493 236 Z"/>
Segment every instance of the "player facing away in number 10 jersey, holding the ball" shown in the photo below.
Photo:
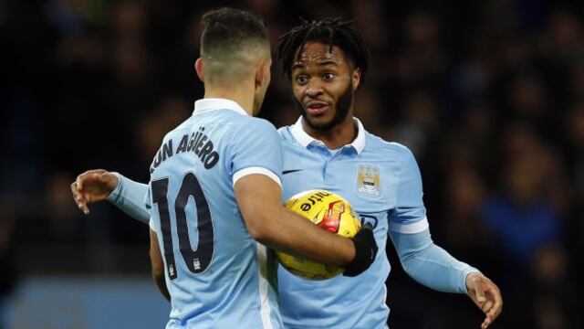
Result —
<path fill-rule="evenodd" d="M 150 218 L 153 276 L 172 302 L 167 328 L 281 328 L 266 246 L 343 266 L 346 275 L 375 258 L 370 228 L 345 239 L 282 206 L 281 143 L 271 123 L 253 117 L 270 66 L 255 16 L 233 8 L 203 16 L 195 69 L 204 98 L 164 136 L 136 201 Z M 72 187 L 80 202 L 93 200 L 90 181 Z"/>

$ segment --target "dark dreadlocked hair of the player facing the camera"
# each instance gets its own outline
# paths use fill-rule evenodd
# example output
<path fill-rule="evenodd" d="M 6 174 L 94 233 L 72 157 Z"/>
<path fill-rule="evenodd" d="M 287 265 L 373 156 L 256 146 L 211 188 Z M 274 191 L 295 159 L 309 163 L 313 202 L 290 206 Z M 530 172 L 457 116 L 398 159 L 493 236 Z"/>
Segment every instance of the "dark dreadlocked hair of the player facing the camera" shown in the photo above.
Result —
<path fill-rule="evenodd" d="M 361 70 L 361 83 L 369 69 L 369 49 L 359 31 L 353 27 L 354 20 L 342 21 L 340 17 L 311 21 L 300 17 L 300 25 L 292 28 L 278 39 L 277 55 L 282 75 L 288 80 L 292 77 L 292 64 L 301 58 L 308 42 L 320 42 L 340 48 L 355 68 Z"/>

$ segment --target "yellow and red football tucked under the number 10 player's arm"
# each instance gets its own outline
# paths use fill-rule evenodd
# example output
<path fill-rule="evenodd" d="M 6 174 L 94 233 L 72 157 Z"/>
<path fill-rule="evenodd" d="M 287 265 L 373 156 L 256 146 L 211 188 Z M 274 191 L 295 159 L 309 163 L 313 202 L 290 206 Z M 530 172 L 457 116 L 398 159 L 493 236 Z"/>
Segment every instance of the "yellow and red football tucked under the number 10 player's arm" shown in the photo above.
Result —
<path fill-rule="evenodd" d="M 287 199 L 285 207 L 308 218 L 320 228 L 341 237 L 352 238 L 361 228 L 349 202 L 342 196 L 325 190 L 309 190 Z M 276 251 L 280 264 L 307 280 L 325 280 L 342 273 L 343 268 L 306 260 L 301 257 Z"/>

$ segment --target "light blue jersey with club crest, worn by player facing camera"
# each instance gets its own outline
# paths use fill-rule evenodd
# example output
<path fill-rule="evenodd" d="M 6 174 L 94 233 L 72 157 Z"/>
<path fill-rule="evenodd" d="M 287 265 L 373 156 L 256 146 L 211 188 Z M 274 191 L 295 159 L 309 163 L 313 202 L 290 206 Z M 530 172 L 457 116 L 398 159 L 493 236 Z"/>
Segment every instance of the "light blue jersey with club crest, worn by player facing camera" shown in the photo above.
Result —
<path fill-rule="evenodd" d="M 315 188 L 335 192 L 374 227 L 380 246 L 370 268 L 354 278 L 307 281 L 280 266 L 280 312 L 287 328 L 386 327 L 388 232 L 417 233 L 428 228 L 422 179 L 412 153 L 399 143 L 367 133 L 355 122 L 357 138 L 335 154 L 304 132 L 300 119 L 278 130 L 284 154 L 283 198 Z"/>

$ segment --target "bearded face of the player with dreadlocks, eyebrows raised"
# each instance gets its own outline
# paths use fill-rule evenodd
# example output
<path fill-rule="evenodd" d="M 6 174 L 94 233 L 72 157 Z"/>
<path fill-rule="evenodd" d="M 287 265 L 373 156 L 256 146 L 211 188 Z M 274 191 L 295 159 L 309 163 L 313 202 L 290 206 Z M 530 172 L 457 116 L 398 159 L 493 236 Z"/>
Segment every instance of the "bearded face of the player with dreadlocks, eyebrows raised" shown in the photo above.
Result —
<path fill-rule="evenodd" d="M 308 125 L 327 131 L 344 122 L 359 85 L 360 71 L 353 69 L 342 50 L 308 42 L 292 67 L 292 90 L 297 109 Z"/>

